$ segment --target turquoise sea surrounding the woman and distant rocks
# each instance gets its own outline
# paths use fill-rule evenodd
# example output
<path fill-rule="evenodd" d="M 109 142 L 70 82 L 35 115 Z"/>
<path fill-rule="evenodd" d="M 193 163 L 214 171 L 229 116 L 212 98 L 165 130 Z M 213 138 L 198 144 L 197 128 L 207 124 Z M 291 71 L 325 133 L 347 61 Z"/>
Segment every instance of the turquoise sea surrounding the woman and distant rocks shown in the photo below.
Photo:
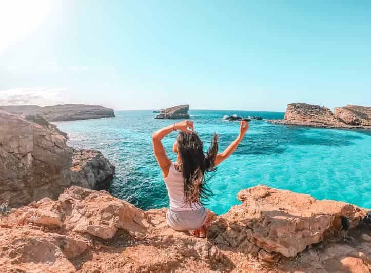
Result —
<path fill-rule="evenodd" d="M 115 111 L 115 118 L 58 122 L 68 133 L 68 145 L 100 150 L 116 166 L 109 191 L 142 208 L 168 206 L 151 134 L 177 120 L 156 120 L 152 111 Z M 281 112 L 190 110 L 194 129 L 207 148 L 214 132 L 220 151 L 238 135 L 239 122 L 224 115 L 282 119 Z M 163 143 L 172 160 L 175 132 Z M 249 122 L 249 131 L 236 152 L 218 166 L 209 181 L 214 196 L 208 208 L 222 214 L 239 204 L 237 193 L 265 184 L 371 208 L 371 132 L 309 128 Z"/>

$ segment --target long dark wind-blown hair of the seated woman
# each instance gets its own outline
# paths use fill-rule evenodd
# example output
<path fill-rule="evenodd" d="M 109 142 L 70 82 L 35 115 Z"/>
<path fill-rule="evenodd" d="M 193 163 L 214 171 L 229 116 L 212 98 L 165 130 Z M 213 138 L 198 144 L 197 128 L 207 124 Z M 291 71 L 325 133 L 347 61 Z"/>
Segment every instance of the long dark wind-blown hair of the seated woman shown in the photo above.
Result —
<path fill-rule="evenodd" d="M 205 173 L 215 171 L 218 153 L 218 135 L 214 134 L 211 145 L 204 153 L 204 144 L 196 132 L 180 132 L 177 138 L 178 151 L 183 165 L 184 201 L 186 204 L 205 205 L 212 196 L 207 186 Z"/>

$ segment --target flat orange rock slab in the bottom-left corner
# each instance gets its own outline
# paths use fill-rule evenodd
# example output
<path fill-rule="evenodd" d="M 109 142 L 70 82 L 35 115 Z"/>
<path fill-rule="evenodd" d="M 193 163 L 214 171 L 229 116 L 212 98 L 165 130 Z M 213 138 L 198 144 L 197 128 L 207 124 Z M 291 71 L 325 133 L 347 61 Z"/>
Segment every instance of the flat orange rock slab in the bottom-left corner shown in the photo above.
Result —
<path fill-rule="evenodd" d="M 86 247 L 85 241 L 65 235 L 0 228 L 0 268 L 2 272 L 75 272 L 68 259 Z"/>

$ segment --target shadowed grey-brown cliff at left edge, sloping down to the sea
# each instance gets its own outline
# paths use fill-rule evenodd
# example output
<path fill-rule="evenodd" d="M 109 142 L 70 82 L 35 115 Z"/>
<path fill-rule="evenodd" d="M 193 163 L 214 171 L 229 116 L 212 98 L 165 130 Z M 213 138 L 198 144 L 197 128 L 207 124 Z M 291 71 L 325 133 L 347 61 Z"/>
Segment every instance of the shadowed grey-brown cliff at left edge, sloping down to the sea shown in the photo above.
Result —
<path fill-rule="evenodd" d="M 100 152 L 68 147 L 66 134 L 41 116 L 0 110 L 0 204 L 56 199 L 71 185 L 106 188 L 113 174 Z"/>

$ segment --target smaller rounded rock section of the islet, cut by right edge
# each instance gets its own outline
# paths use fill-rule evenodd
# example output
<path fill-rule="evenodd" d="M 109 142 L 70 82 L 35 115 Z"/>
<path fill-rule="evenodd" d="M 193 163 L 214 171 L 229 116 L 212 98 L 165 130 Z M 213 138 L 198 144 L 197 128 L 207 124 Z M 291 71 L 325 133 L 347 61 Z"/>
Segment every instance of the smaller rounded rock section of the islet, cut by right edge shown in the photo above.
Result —
<path fill-rule="evenodd" d="M 371 107 L 357 105 L 335 107 L 334 115 L 339 120 L 349 125 L 371 126 Z"/>

